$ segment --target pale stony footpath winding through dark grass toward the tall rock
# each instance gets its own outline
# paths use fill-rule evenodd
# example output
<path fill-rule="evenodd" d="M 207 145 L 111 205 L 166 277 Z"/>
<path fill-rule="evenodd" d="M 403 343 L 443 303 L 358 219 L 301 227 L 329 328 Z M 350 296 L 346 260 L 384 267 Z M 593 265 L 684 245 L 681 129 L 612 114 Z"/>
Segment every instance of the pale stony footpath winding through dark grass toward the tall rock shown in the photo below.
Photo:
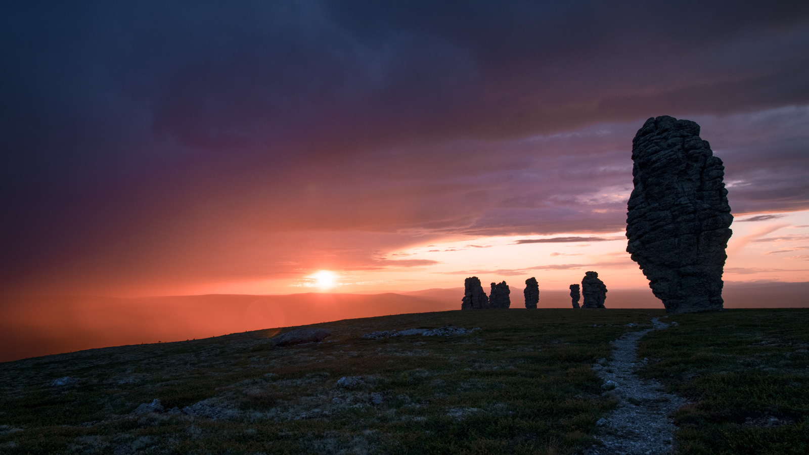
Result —
<path fill-rule="evenodd" d="M 653 329 L 625 334 L 613 343 L 612 362 L 602 359 L 594 369 L 604 379 L 604 388 L 612 383 L 615 389 L 607 394 L 615 398 L 619 407 L 607 419 L 599 420 L 601 431 L 596 436 L 603 446 L 587 450 L 590 455 L 636 455 L 671 453 L 676 426 L 668 417 L 686 402 L 671 393 L 664 393 L 657 381 L 642 381 L 634 371 L 638 362 L 637 342 L 652 330 L 661 330 L 668 324 L 652 319 Z M 612 381 L 612 382 L 610 382 Z"/>

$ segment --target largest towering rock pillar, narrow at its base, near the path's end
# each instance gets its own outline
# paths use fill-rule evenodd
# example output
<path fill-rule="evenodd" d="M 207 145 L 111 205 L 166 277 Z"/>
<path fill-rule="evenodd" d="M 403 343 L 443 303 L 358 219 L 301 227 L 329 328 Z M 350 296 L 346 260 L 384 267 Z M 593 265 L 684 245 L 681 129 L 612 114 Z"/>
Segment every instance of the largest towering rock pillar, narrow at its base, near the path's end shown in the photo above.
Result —
<path fill-rule="evenodd" d="M 626 219 L 632 255 L 667 313 L 722 308 L 731 206 L 722 159 L 693 121 L 650 118 L 632 141 Z"/>

